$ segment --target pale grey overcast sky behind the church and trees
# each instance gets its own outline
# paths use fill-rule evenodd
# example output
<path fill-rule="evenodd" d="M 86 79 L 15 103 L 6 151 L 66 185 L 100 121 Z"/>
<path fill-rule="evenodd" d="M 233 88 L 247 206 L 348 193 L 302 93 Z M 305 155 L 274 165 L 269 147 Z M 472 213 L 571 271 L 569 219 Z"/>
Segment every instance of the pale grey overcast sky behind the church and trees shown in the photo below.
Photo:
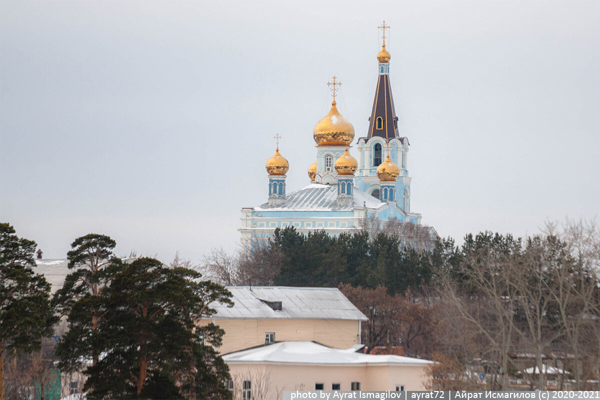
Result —
<path fill-rule="evenodd" d="M 89 232 L 163 261 L 235 249 L 275 133 L 288 191 L 308 184 L 334 74 L 365 136 L 384 19 L 424 224 L 522 236 L 600 212 L 600 2 L 0 6 L 1 219 L 45 258 Z"/>

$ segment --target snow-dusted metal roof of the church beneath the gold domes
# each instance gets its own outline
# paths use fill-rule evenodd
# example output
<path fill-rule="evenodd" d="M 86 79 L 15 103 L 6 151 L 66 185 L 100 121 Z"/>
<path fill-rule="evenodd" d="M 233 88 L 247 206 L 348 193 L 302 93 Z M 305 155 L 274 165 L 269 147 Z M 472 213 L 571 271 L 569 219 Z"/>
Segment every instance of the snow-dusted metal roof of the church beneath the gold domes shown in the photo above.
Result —
<path fill-rule="evenodd" d="M 386 203 L 376 199 L 354 187 L 352 190 L 353 201 L 350 204 L 340 205 L 335 201 L 337 199 L 337 185 L 310 184 L 305 188 L 293 191 L 286 195 L 286 201 L 277 206 L 269 206 L 269 203 L 254 207 L 256 211 L 268 210 L 337 210 L 350 211 L 354 207 L 363 207 L 378 209 L 385 206 Z"/>

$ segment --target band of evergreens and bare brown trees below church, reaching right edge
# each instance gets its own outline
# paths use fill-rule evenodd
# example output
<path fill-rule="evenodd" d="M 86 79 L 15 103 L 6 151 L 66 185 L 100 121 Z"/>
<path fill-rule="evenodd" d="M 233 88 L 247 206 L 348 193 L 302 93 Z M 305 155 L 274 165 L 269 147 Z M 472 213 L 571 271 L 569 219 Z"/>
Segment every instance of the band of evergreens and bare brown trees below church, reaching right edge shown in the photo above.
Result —
<path fill-rule="evenodd" d="M 536 371 L 550 358 L 560 362 L 561 386 L 598 387 L 595 223 L 546 224 L 525 238 L 467 234 L 460 246 L 410 225 L 363 224 L 338 236 L 277 229 L 236 254 L 213 249 L 202 269 L 226 285 L 339 286 L 369 318 L 368 347 L 402 346 L 408 356 L 443 361 L 430 371 L 432 388 L 481 389 L 473 362 L 488 372 L 488 388 L 506 389 L 517 377 L 546 387 L 544 373 L 519 371 L 519 354 Z"/>

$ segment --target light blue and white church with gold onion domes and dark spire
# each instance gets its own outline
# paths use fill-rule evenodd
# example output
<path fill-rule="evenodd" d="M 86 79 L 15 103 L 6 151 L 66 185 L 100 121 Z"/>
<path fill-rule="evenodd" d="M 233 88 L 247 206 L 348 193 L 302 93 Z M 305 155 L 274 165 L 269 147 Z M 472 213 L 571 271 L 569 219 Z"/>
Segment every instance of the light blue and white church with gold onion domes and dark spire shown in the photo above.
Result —
<path fill-rule="evenodd" d="M 410 143 L 398 131 L 389 80 L 391 56 L 385 48 L 385 29 L 389 26 L 384 21 L 379 28 L 383 29 L 383 44 L 377 54 L 377 85 L 366 136 L 354 142 L 354 127 L 336 106 L 336 90 L 341 83 L 334 76 L 328 83 L 333 95 L 331 110 L 313 129 L 317 155 L 308 167 L 310 183 L 287 191 L 289 163 L 277 144 L 275 154 L 266 161 L 268 201 L 242 208 L 242 245 L 272 237 L 275 228 L 295 227 L 301 233 L 325 230 L 336 235 L 361 228 L 366 218 L 421 224 L 421 214 L 410 210 Z M 352 143 L 358 160 L 350 154 Z M 430 235 L 437 236 L 433 228 Z"/>

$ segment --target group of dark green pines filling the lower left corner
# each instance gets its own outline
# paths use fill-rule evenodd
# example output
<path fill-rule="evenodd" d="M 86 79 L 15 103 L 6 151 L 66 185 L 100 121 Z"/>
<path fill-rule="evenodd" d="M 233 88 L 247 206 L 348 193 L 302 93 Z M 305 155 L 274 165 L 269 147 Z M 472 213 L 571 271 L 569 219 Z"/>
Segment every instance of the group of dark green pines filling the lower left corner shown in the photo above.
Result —
<path fill-rule="evenodd" d="M 71 244 L 71 272 L 51 297 L 33 271 L 35 242 L 0 227 L 0 399 L 44 398 L 54 356 L 60 371 L 85 375 L 90 399 L 231 398 L 229 368 L 206 344 L 220 344 L 223 330 L 196 326 L 215 314 L 211 303 L 233 305 L 223 286 L 178 258 L 124 262 L 115 240 L 88 234 Z M 48 347 L 59 321 L 65 333 Z"/>

